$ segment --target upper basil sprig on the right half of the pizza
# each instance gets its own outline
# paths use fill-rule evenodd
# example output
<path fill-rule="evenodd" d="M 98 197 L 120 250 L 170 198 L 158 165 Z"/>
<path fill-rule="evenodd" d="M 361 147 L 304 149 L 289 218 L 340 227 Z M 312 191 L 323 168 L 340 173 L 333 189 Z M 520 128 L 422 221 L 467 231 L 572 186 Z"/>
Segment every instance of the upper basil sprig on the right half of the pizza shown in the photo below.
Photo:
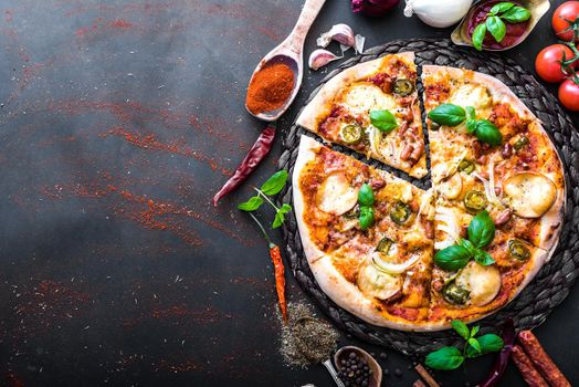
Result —
<path fill-rule="evenodd" d="M 441 104 L 429 113 L 430 119 L 439 125 L 459 126 L 466 121 L 466 130 L 476 138 L 491 146 L 498 146 L 503 142 L 501 130 L 488 119 L 476 119 L 474 107 L 454 104 Z"/>

